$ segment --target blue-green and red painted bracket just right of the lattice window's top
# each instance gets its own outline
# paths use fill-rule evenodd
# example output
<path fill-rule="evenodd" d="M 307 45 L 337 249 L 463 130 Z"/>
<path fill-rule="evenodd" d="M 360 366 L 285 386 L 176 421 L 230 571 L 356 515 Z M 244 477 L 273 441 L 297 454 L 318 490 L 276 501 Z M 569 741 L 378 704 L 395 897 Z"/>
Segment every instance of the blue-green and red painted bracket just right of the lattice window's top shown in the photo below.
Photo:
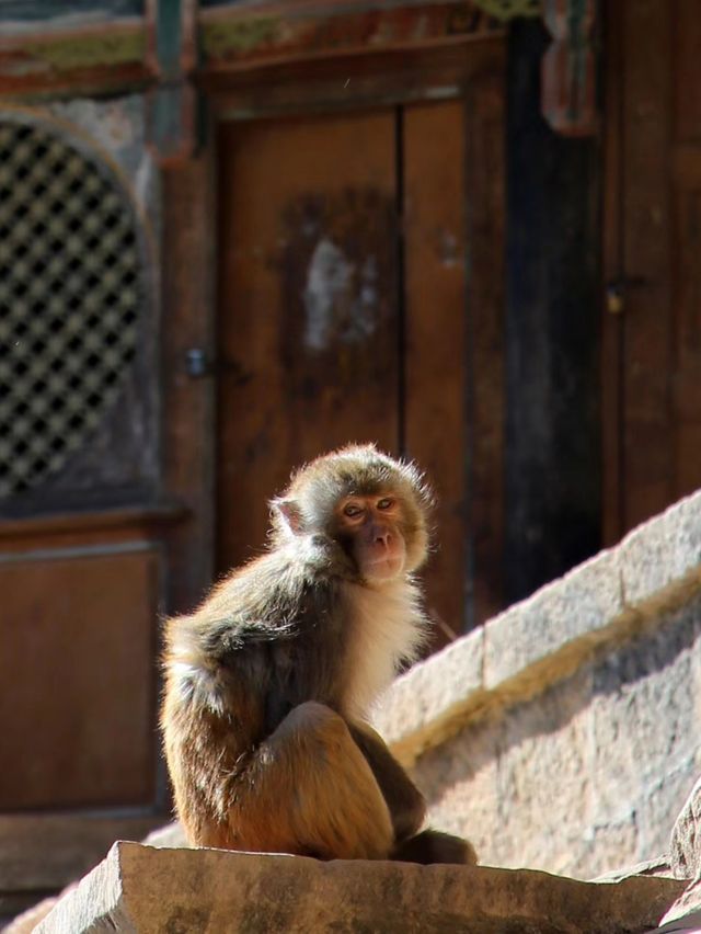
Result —
<path fill-rule="evenodd" d="M 146 0 L 148 59 L 158 75 L 150 92 L 150 144 L 161 163 L 189 158 L 199 137 L 197 0 Z"/>

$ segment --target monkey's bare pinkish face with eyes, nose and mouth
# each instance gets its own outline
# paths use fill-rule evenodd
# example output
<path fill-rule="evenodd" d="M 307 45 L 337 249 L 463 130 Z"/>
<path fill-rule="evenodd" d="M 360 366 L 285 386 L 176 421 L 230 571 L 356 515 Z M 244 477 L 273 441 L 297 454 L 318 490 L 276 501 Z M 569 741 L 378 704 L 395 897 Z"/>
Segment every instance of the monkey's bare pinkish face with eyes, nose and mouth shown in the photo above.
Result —
<path fill-rule="evenodd" d="M 406 566 L 402 509 L 391 496 L 353 496 L 338 503 L 337 535 L 368 582 L 392 580 Z"/>

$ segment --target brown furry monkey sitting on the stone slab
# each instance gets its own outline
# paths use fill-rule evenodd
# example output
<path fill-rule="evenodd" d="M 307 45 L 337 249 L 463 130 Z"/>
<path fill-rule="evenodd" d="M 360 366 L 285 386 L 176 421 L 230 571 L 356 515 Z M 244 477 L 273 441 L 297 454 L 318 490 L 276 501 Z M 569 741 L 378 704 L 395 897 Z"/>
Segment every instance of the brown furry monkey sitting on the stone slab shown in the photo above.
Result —
<path fill-rule="evenodd" d="M 375 445 L 319 457 L 272 501 L 266 551 L 166 620 L 161 730 L 191 844 L 476 862 L 421 831 L 424 797 L 368 722 L 426 637 L 432 502 L 421 471 Z"/>

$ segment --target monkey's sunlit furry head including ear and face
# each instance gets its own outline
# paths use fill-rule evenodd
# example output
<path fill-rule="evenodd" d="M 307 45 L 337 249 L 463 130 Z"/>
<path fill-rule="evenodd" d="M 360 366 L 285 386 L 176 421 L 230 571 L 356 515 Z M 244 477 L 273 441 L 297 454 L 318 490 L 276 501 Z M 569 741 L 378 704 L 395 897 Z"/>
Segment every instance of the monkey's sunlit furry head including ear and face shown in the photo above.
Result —
<path fill-rule="evenodd" d="M 274 500 L 273 539 L 323 535 L 352 572 L 381 583 L 425 560 L 433 497 L 421 471 L 375 445 L 343 447 L 298 470 Z"/>

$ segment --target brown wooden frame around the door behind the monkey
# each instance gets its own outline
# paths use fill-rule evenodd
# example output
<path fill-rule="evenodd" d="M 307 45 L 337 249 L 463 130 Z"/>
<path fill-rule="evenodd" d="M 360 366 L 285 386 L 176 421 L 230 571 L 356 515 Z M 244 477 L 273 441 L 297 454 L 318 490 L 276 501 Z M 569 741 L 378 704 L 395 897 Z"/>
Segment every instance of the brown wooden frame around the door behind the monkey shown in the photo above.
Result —
<path fill-rule="evenodd" d="M 503 152 L 504 139 L 504 113 L 494 112 L 494 102 L 503 102 L 505 98 L 506 77 L 506 42 L 502 32 L 490 33 L 475 37 L 455 38 L 439 46 L 422 49 L 404 49 L 383 53 L 366 53 L 345 58 L 325 58 L 323 60 L 292 61 L 252 69 L 242 73 L 229 73 L 203 76 L 200 87 L 207 94 L 209 103 L 208 116 L 208 140 L 209 159 L 214 160 L 214 145 L 217 138 L 217 125 L 223 122 L 265 119 L 288 116 L 310 116 L 323 114 L 338 114 L 343 111 L 372 110 L 388 106 L 429 103 L 433 101 L 460 100 L 467 110 L 466 126 L 479 126 L 479 139 L 469 138 L 466 146 L 466 201 L 467 205 L 467 238 L 470 244 L 472 266 L 467 283 L 467 295 L 470 295 L 475 286 L 479 301 L 472 303 L 470 307 L 470 319 L 472 333 L 469 334 L 470 356 L 468 366 L 470 372 L 468 378 L 472 385 L 466 387 L 466 413 L 472 410 L 484 411 L 493 414 L 495 420 L 494 431 L 491 436 L 482 442 L 480 455 L 484 462 L 481 476 L 479 468 L 472 466 L 472 458 L 468 458 L 466 500 L 468 529 L 466 580 L 464 580 L 464 629 L 457 635 L 473 628 L 480 622 L 489 618 L 502 608 L 502 605 L 493 599 L 493 593 L 499 590 L 502 581 L 501 551 L 503 548 L 504 526 L 504 490 L 503 490 L 503 464 L 499 462 L 495 469 L 496 455 L 503 456 L 504 452 L 504 396 L 494 400 L 493 394 L 484 387 L 490 380 L 498 379 L 499 374 L 494 373 L 494 367 L 483 373 L 473 374 L 473 344 L 474 332 L 487 331 L 487 340 L 493 339 L 493 327 L 480 327 L 480 311 L 483 309 L 483 319 L 486 324 L 493 309 L 497 308 L 498 328 L 503 327 L 504 314 L 504 275 L 481 275 L 482 266 L 486 267 L 487 257 L 493 255 L 493 243 L 495 238 L 504 242 L 505 230 L 505 201 L 501 216 L 498 212 L 491 210 L 491 205 L 481 203 L 481 186 L 489 172 L 494 171 L 494 162 L 489 167 L 484 159 L 484 149 L 497 162 L 505 159 Z M 498 104 L 501 107 L 501 103 Z M 501 126 L 501 136 L 494 146 L 494 127 L 490 122 Z M 490 133 L 492 136 L 490 136 Z M 487 136 L 490 138 L 487 139 Z M 482 150 L 480 149 L 482 147 Z M 502 179 L 505 180 L 505 166 L 502 162 Z M 503 182 L 505 183 L 505 181 Z M 214 183 L 216 191 L 216 181 Z M 210 216 L 209 242 L 216 243 L 216 213 Z M 218 253 L 216 253 L 218 255 Z M 480 260 L 484 262 L 481 264 Z M 499 265 L 504 266 L 504 250 L 497 260 L 492 260 L 490 272 Z M 217 275 L 218 270 L 212 270 Z M 210 335 L 216 333 L 215 316 L 218 301 L 212 301 L 211 322 L 208 328 Z M 212 348 L 212 358 L 216 351 Z M 501 374 L 504 384 L 503 373 Z M 214 406 L 214 400 L 210 400 Z M 215 421 L 216 424 L 216 421 Z M 214 429 L 214 424 L 212 424 Z M 199 429 L 202 431 L 202 429 Z M 216 429 L 215 429 L 216 431 Z M 470 425 L 468 425 L 468 432 Z M 468 437 L 468 445 L 473 438 Z M 204 448 L 203 448 L 204 449 Z M 217 437 L 212 433 L 206 444 L 209 467 L 207 475 L 214 480 L 217 459 Z M 489 467 L 486 466 L 489 462 Z M 489 480 L 487 480 L 489 478 Z M 471 496 L 471 489 L 475 481 L 489 482 L 490 489 L 495 491 L 493 501 L 476 501 Z M 216 489 L 216 482 L 211 489 Z M 214 506 L 216 512 L 216 505 Z M 216 548 L 216 519 L 212 514 L 211 503 L 207 506 L 209 526 L 210 555 L 214 557 Z M 489 573 L 489 586 L 480 584 L 480 571 L 475 572 L 475 566 L 483 568 Z M 503 593 L 503 586 L 501 588 Z M 451 638 L 446 634 L 443 643 Z"/>

